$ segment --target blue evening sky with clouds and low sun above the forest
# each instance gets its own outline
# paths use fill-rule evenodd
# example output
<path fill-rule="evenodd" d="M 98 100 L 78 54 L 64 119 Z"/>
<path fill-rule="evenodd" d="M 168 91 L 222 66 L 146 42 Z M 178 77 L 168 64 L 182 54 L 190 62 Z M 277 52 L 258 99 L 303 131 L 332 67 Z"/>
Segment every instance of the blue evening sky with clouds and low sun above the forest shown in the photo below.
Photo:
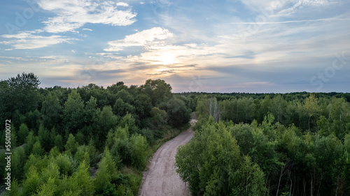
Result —
<path fill-rule="evenodd" d="M 349 0 L 0 2 L 0 80 L 350 92 Z"/>

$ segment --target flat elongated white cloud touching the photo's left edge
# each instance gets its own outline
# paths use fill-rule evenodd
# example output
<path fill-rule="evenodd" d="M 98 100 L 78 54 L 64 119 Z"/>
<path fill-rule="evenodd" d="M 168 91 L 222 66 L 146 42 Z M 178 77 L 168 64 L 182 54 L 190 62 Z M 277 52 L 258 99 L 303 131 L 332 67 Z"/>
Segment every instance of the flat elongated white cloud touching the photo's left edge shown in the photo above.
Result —
<path fill-rule="evenodd" d="M 12 38 L 12 40 L 4 40 L 0 44 L 10 45 L 13 49 L 37 49 L 58 43 L 72 43 L 74 40 L 78 40 L 77 38 L 68 38 L 65 36 L 36 36 L 28 32 L 2 35 L 1 37 Z"/>

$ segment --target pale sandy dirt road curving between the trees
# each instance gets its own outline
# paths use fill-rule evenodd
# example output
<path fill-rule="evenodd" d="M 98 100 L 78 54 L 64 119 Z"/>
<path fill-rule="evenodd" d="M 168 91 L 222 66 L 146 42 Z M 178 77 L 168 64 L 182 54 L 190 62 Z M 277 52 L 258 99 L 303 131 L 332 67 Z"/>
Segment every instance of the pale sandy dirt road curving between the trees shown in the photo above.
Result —
<path fill-rule="evenodd" d="M 191 124 L 197 120 L 191 120 Z M 188 129 L 162 145 L 153 155 L 148 171 L 144 172 L 144 179 L 140 196 L 190 196 L 190 190 L 174 167 L 176 149 L 186 144 L 193 137 Z"/>

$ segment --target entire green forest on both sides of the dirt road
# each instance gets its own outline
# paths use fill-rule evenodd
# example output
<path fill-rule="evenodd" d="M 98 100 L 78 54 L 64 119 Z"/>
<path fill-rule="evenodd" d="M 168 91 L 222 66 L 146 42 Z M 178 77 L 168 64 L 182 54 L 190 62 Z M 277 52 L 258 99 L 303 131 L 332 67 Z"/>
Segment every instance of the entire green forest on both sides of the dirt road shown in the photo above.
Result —
<path fill-rule="evenodd" d="M 350 195 L 350 93 L 172 93 L 0 82 L 1 194 L 138 195 L 159 146 L 189 127 L 176 168 L 192 195 Z M 11 185 L 5 122 L 10 120 Z"/>

